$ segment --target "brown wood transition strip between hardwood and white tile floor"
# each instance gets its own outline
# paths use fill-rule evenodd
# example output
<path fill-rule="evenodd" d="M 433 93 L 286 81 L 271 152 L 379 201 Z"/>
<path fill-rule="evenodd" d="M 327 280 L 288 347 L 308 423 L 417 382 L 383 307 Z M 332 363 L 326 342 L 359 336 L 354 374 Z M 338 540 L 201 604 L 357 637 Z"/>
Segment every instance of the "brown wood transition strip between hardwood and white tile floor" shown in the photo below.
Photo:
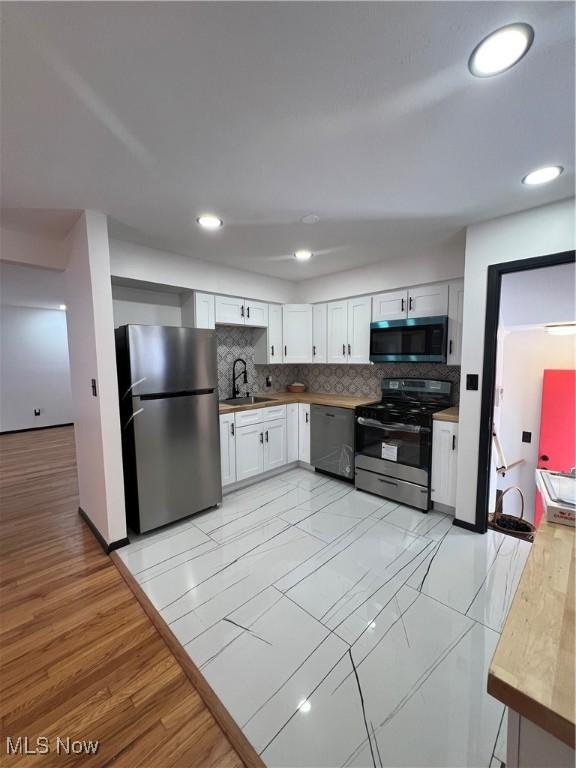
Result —
<path fill-rule="evenodd" d="M 218 696 L 214 693 L 212 687 L 202 675 L 196 664 L 194 664 L 182 645 L 180 645 L 176 637 L 173 635 L 172 630 L 168 624 L 166 624 L 160 613 L 156 610 L 140 584 L 138 584 L 134 576 L 130 573 L 122 558 L 118 555 L 117 552 L 113 552 L 110 556 L 110 559 L 116 568 L 120 571 L 124 581 L 130 590 L 134 593 L 134 596 L 144 609 L 152 624 L 154 624 L 158 630 L 160 636 L 168 646 L 168 649 L 184 670 L 186 677 L 188 677 L 192 685 L 197 689 L 203 702 L 206 704 L 207 708 L 214 716 L 214 719 L 226 734 L 230 744 L 242 758 L 244 764 L 247 766 L 247 768 L 265 768 L 260 755 L 256 752 L 246 736 L 242 733 L 239 726 L 229 714 L 228 710 L 224 707 Z"/>

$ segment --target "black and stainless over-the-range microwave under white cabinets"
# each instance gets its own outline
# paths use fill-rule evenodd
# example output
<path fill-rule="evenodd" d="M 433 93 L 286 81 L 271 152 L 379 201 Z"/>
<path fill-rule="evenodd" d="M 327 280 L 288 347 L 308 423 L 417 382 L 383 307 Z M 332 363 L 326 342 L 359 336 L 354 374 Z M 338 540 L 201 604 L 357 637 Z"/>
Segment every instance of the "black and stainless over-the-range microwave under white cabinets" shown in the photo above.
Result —
<path fill-rule="evenodd" d="M 373 363 L 445 363 L 448 318 L 410 317 L 370 324 Z"/>

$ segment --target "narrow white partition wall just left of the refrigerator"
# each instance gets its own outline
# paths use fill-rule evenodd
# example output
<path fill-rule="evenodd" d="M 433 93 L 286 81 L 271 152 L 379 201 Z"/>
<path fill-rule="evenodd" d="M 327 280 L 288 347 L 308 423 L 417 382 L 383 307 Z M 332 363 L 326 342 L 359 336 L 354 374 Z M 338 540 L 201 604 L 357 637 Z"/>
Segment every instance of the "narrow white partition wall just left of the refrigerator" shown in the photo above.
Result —
<path fill-rule="evenodd" d="M 126 516 L 106 217 L 85 211 L 68 247 L 66 304 L 80 506 L 110 543 L 126 536 Z"/>

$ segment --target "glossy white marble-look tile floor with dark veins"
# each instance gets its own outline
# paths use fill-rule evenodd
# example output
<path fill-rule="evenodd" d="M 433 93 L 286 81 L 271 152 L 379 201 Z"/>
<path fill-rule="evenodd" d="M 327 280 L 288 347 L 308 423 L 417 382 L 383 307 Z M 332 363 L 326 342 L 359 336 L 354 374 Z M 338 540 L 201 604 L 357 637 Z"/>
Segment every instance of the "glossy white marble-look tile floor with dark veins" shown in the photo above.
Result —
<path fill-rule="evenodd" d="M 500 768 L 529 547 L 294 469 L 119 554 L 266 765 Z"/>

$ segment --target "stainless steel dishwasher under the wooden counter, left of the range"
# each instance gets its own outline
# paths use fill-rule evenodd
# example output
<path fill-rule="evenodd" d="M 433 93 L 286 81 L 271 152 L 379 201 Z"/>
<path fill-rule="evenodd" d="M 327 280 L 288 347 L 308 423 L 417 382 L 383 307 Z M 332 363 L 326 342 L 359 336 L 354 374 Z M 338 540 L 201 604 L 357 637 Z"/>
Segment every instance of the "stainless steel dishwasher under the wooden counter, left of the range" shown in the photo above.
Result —
<path fill-rule="evenodd" d="M 310 463 L 331 475 L 354 478 L 354 411 L 351 408 L 311 407 Z"/>

